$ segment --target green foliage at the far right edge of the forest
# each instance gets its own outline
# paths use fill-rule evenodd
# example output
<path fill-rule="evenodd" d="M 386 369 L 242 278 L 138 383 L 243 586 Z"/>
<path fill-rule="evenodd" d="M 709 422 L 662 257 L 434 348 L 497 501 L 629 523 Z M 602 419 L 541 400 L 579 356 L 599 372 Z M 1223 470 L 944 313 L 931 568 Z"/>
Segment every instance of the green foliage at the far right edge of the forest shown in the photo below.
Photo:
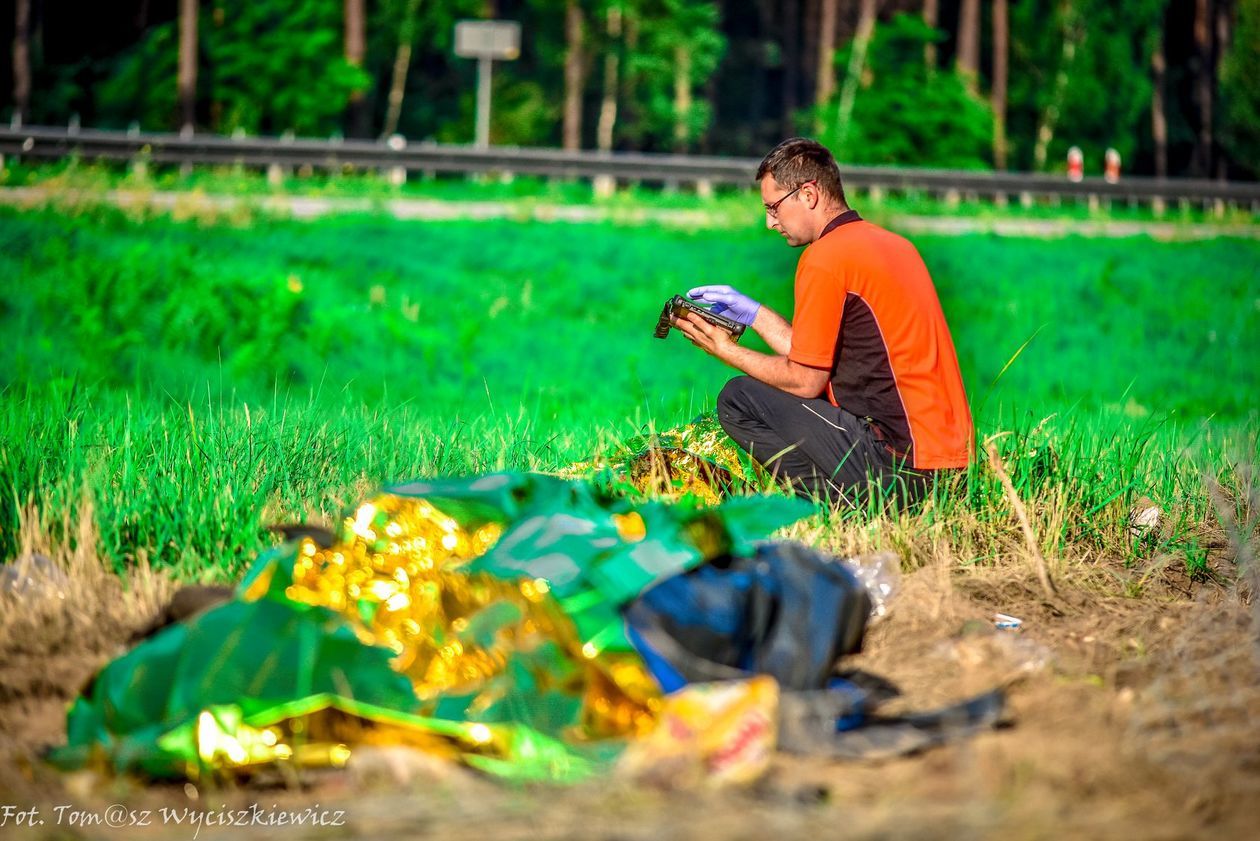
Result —
<path fill-rule="evenodd" d="M 1221 62 L 1221 142 L 1260 177 L 1260 0 L 1239 0 L 1234 43 Z"/>

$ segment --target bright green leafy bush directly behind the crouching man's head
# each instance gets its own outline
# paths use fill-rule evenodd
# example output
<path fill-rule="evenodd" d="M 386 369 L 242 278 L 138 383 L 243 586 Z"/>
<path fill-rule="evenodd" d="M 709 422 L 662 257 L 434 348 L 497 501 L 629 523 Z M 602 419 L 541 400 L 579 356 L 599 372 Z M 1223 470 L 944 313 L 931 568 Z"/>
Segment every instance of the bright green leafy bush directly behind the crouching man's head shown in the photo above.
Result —
<path fill-rule="evenodd" d="M 866 72 L 853 106 L 843 146 L 838 137 L 837 102 L 808 110 L 804 125 L 820 117 L 822 142 L 849 164 L 898 166 L 988 166 L 993 145 L 993 116 L 984 101 L 968 93 L 951 71 L 929 72 L 924 47 L 940 33 L 921 18 L 898 14 L 874 29 Z M 843 74 L 852 44 L 835 64 Z"/>

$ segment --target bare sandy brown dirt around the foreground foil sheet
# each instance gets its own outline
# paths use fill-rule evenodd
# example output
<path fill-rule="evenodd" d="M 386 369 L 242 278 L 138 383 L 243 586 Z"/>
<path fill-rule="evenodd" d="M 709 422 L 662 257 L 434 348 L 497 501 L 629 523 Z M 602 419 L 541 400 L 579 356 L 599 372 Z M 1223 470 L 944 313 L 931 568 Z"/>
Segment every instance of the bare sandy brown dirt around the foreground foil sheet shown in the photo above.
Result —
<path fill-rule="evenodd" d="M 78 566 L 74 566 L 77 564 Z M 617 780 L 512 787 L 408 753 L 360 753 L 340 772 L 267 789 L 198 791 L 82 772 L 38 753 L 64 738 L 66 704 L 169 598 L 72 561 L 55 593 L 0 603 L 4 838 L 1245 838 L 1260 820 L 1260 646 L 1249 594 L 1177 572 L 1139 598 L 994 570 L 922 569 L 844 666 L 883 676 L 921 710 L 1004 685 L 1009 724 L 921 755 L 840 763 L 779 755 L 756 786 L 663 789 Z M 997 630 L 995 610 L 1021 617 Z M 896 711 L 896 710 L 893 710 Z M 147 826 L 111 828 L 123 803 Z M 198 828 L 160 808 L 325 812 L 325 826 Z M 60 808 L 58 808 L 60 807 Z M 116 813 L 115 813 L 116 815 Z M 93 817 L 97 816 L 97 817 Z M 82 826 L 83 822 L 88 826 Z M 102 821 L 91 825 L 92 821 Z M 73 826 L 78 822 L 79 826 Z"/>

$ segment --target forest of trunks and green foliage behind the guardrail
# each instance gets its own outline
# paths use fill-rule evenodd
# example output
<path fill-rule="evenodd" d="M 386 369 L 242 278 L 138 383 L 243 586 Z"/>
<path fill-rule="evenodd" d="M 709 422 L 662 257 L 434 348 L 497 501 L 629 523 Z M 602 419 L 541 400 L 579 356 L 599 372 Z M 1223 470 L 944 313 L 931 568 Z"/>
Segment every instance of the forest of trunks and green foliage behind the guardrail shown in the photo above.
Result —
<path fill-rule="evenodd" d="M 1260 175 L 1260 0 L 16 0 L 0 115 L 469 142 L 461 19 L 522 25 L 493 144 Z"/>

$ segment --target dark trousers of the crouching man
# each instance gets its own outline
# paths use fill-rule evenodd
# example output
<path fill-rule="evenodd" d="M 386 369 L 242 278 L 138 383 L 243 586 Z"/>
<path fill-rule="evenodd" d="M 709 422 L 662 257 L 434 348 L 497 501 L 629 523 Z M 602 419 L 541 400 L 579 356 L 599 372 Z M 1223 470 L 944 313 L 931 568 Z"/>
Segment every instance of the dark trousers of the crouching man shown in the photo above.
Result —
<path fill-rule="evenodd" d="M 736 377 L 717 398 L 717 419 L 736 444 L 798 496 L 862 504 L 874 483 L 886 501 L 916 502 L 932 472 L 914 470 L 864 419 L 822 397 L 805 398 Z"/>

